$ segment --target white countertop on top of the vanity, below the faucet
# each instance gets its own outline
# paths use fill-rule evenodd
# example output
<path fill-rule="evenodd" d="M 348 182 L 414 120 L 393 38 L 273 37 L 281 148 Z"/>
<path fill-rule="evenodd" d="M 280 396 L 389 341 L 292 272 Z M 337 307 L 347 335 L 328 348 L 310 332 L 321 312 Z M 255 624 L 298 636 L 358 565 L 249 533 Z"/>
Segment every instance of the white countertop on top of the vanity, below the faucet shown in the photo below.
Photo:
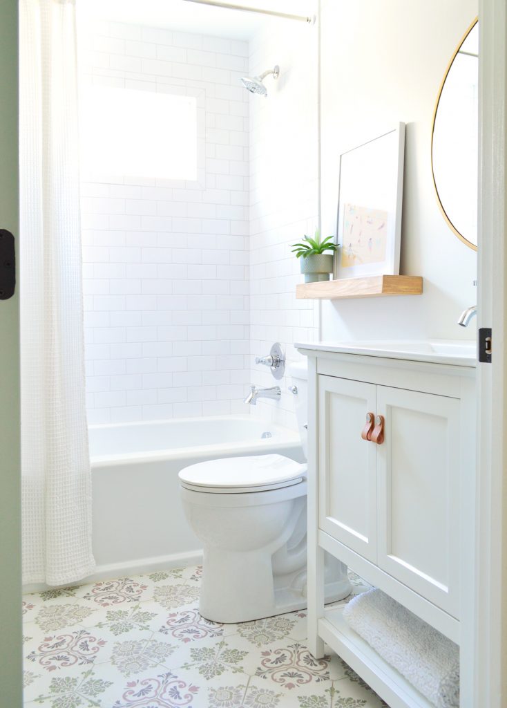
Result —
<path fill-rule="evenodd" d="M 475 367 L 477 343 L 475 341 L 443 340 L 389 340 L 354 342 L 296 342 L 297 349 L 358 354 L 405 361 L 423 361 L 431 364 Z"/>

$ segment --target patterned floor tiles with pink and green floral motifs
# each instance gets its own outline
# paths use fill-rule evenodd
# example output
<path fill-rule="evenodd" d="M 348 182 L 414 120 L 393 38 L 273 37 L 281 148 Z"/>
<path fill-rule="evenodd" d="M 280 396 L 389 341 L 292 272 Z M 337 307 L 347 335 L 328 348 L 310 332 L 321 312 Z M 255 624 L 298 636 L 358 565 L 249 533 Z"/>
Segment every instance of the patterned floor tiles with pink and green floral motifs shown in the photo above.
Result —
<path fill-rule="evenodd" d="M 201 572 L 25 595 L 25 707 L 385 706 L 336 655 L 310 655 L 305 612 L 245 624 L 200 617 Z M 353 594 L 368 589 L 351 582 Z"/>

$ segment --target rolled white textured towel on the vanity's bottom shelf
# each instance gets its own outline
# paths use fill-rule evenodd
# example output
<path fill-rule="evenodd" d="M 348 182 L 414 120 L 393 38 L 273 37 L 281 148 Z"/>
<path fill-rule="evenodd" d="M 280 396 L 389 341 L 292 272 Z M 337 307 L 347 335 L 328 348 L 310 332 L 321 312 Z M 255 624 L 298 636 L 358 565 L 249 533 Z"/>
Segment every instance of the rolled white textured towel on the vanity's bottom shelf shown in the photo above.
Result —
<path fill-rule="evenodd" d="M 351 600 L 343 616 L 437 708 L 459 708 L 457 644 L 376 588 Z"/>

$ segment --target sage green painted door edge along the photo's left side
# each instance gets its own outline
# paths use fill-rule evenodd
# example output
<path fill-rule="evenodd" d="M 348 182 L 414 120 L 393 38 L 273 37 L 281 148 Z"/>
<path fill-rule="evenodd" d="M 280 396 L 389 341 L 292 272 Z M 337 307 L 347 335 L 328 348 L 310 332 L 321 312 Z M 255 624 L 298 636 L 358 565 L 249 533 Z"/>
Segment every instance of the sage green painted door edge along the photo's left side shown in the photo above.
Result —
<path fill-rule="evenodd" d="M 18 236 L 18 1 L 0 0 L 0 228 Z M 18 251 L 18 244 L 16 244 Z M 0 300 L 0 704 L 21 708 L 18 294 Z"/>

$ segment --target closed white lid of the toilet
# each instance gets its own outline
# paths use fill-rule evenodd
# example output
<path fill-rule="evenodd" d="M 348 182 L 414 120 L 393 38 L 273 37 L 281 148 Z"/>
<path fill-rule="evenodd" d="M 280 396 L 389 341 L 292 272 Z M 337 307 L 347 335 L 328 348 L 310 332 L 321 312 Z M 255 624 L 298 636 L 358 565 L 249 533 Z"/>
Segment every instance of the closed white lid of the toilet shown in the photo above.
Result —
<path fill-rule="evenodd" d="M 305 474 L 306 465 L 283 455 L 226 457 L 191 464 L 179 474 L 183 484 L 209 489 L 265 489 L 267 486 L 296 484 Z"/>

